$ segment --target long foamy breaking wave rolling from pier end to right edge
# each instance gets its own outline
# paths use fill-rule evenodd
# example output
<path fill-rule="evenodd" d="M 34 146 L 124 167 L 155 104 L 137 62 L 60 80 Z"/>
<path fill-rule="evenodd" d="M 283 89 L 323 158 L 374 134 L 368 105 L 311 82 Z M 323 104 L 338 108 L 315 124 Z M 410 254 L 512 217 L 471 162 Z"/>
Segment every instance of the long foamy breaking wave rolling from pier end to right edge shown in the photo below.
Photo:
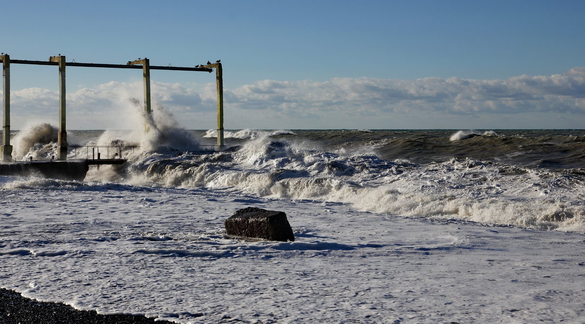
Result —
<path fill-rule="evenodd" d="M 452 158 L 414 164 L 253 140 L 228 151 L 142 153 L 113 179 L 350 204 L 362 211 L 585 232 L 583 175 Z"/>

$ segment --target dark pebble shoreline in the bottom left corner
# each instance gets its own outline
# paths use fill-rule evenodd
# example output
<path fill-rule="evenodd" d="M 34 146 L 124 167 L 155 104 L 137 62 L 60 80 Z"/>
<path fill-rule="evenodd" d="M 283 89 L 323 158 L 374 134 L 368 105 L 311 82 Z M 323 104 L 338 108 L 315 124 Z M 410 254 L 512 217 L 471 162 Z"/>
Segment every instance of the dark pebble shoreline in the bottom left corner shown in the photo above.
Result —
<path fill-rule="evenodd" d="M 3 324 L 142 324 L 154 318 L 134 315 L 104 315 L 95 311 L 78 311 L 71 306 L 39 302 L 22 297 L 18 292 L 0 288 L 0 322 Z M 156 323 L 173 323 L 156 320 Z"/>

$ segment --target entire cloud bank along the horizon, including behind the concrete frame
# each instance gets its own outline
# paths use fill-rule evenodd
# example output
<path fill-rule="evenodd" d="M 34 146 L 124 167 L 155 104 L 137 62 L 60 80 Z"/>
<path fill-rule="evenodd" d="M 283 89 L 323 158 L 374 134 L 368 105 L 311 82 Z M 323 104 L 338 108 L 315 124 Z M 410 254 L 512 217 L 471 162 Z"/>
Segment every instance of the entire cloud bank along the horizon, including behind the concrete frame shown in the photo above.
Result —
<path fill-rule="evenodd" d="M 153 81 L 155 109 L 157 105 L 164 107 L 188 128 L 214 128 L 215 84 L 197 88 L 196 91 L 186 85 Z M 13 91 L 12 120 L 17 123 L 33 118 L 56 120 L 57 95 L 40 88 Z M 574 122 L 577 116 L 580 121 L 585 116 L 585 67 L 574 67 L 563 74 L 520 75 L 506 80 L 455 77 L 333 78 L 325 82 L 263 80 L 224 89 L 224 97 L 225 126 L 231 129 L 453 128 L 446 125 L 448 120 L 457 123 L 473 120 L 481 125 L 482 120 L 498 123 L 506 118 L 532 118 L 533 123 L 541 118 L 534 128 L 566 128 L 559 124 L 562 120 Z M 95 88 L 70 91 L 68 125 L 83 129 L 123 129 L 125 111 L 135 109 L 129 98 L 142 98 L 140 82 L 112 81 Z M 560 119 L 550 120 L 554 116 Z M 485 128 L 514 128 L 508 124 L 502 122 L 501 127 L 486 125 Z M 526 126 L 518 125 L 518 128 Z"/>

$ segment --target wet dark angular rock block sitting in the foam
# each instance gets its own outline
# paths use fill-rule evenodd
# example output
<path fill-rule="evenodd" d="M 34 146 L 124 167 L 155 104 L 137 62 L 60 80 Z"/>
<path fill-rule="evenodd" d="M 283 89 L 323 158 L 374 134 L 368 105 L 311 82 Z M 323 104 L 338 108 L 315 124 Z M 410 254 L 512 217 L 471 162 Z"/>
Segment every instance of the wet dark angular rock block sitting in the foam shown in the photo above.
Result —
<path fill-rule="evenodd" d="M 273 241 L 294 241 L 294 234 L 284 212 L 248 207 L 225 220 L 228 235 L 257 237 Z"/>

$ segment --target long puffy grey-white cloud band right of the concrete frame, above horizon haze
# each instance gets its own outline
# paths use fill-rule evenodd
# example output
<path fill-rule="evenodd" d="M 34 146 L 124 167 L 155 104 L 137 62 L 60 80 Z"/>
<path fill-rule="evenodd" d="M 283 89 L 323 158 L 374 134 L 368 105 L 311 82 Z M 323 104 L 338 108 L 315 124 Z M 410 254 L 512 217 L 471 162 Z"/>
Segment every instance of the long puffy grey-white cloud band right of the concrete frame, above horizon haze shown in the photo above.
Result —
<path fill-rule="evenodd" d="M 451 114 L 585 112 L 585 68 L 550 77 L 508 80 L 335 78 L 326 82 L 260 81 L 235 89 L 242 109 L 319 108 L 346 116 L 381 112 Z M 253 102 L 253 105 L 249 105 Z M 291 104 L 294 104 L 291 106 Z M 284 109 L 287 108 L 287 109 Z M 356 110 L 357 109 L 357 110 Z"/>

